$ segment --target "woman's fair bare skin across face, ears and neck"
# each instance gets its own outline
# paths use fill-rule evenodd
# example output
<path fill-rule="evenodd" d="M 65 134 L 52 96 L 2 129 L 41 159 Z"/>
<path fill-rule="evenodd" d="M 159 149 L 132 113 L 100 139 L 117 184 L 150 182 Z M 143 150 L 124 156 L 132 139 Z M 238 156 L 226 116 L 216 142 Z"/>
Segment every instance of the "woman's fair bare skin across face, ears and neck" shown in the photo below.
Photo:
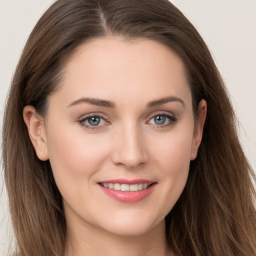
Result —
<path fill-rule="evenodd" d="M 147 106 L 166 96 L 183 103 Z M 115 107 L 72 104 L 81 97 Z M 84 126 L 88 119 L 80 121 L 88 114 L 103 117 L 96 129 Z M 153 117 L 163 114 L 172 118 L 159 125 Z M 32 106 L 23 111 L 37 156 L 49 159 L 63 196 L 67 255 L 172 255 L 165 249 L 164 217 L 184 188 L 205 115 L 201 100 L 194 121 L 183 63 L 158 42 L 107 37 L 76 49 L 46 117 L 39 118 Z M 157 184 L 146 198 L 126 203 L 97 184 L 116 178 Z"/>

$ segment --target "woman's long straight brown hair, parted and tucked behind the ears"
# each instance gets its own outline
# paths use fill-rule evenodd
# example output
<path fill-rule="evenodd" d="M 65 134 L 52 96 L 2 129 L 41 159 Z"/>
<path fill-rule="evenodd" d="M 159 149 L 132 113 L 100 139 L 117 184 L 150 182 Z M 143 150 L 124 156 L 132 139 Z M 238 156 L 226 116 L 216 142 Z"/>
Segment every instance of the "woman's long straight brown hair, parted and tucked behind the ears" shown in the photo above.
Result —
<path fill-rule="evenodd" d="M 208 105 L 197 158 L 165 217 L 168 246 L 183 256 L 255 256 L 255 176 L 225 85 L 199 33 L 168 0 L 58 0 L 35 25 L 11 82 L 2 133 L 16 254 L 62 256 L 66 239 L 61 195 L 49 161 L 35 154 L 22 110 L 33 105 L 45 116 L 68 56 L 81 43 L 107 35 L 168 46 L 186 67 L 195 117 L 200 99 Z"/>

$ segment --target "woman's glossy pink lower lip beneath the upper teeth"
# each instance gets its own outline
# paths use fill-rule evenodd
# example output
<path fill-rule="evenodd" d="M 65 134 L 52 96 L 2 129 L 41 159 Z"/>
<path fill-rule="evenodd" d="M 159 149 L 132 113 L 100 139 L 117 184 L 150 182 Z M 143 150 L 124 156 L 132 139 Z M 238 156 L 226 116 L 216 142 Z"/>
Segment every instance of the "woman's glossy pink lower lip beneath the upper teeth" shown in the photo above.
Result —
<path fill-rule="evenodd" d="M 111 188 L 106 188 L 100 184 L 98 184 L 103 192 L 110 197 L 114 198 L 117 201 L 121 202 L 138 202 L 145 197 L 147 197 L 154 189 L 156 183 L 153 183 L 146 189 L 138 190 L 138 191 L 121 191 L 121 190 L 114 190 Z"/>

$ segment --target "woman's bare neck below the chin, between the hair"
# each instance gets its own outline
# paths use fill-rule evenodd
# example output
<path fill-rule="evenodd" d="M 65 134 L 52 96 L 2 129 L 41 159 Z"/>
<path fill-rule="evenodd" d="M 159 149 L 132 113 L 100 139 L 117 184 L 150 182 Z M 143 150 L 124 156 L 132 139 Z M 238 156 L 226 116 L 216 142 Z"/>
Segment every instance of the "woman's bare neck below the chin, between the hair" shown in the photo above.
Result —
<path fill-rule="evenodd" d="M 67 226 L 68 225 L 67 223 Z M 88 223 L 71 225 L 68 230 L 66 256 L 170 256 L 166 249 L 165 223 L 162 221 L 143 234 L 118 235 Z"/>

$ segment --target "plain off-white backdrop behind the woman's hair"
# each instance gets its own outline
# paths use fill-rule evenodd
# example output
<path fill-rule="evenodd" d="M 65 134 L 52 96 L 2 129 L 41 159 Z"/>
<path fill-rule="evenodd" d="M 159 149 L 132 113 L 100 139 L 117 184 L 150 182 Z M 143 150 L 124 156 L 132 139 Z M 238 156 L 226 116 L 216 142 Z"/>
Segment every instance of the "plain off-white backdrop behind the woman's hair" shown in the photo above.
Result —
<path fill-rule="evenodd" d="M 53 0 L 0 0 L 0 126 L 15 65 L 36 21 Z M 240 120 L 240 139 L 256 167 L 256 0 L 171 0 L 211 50 Z M 0 255 L 7 255 L 11 225 L 0 169 Z M 1 189 L 0 189 L 1 191 Z"/>

